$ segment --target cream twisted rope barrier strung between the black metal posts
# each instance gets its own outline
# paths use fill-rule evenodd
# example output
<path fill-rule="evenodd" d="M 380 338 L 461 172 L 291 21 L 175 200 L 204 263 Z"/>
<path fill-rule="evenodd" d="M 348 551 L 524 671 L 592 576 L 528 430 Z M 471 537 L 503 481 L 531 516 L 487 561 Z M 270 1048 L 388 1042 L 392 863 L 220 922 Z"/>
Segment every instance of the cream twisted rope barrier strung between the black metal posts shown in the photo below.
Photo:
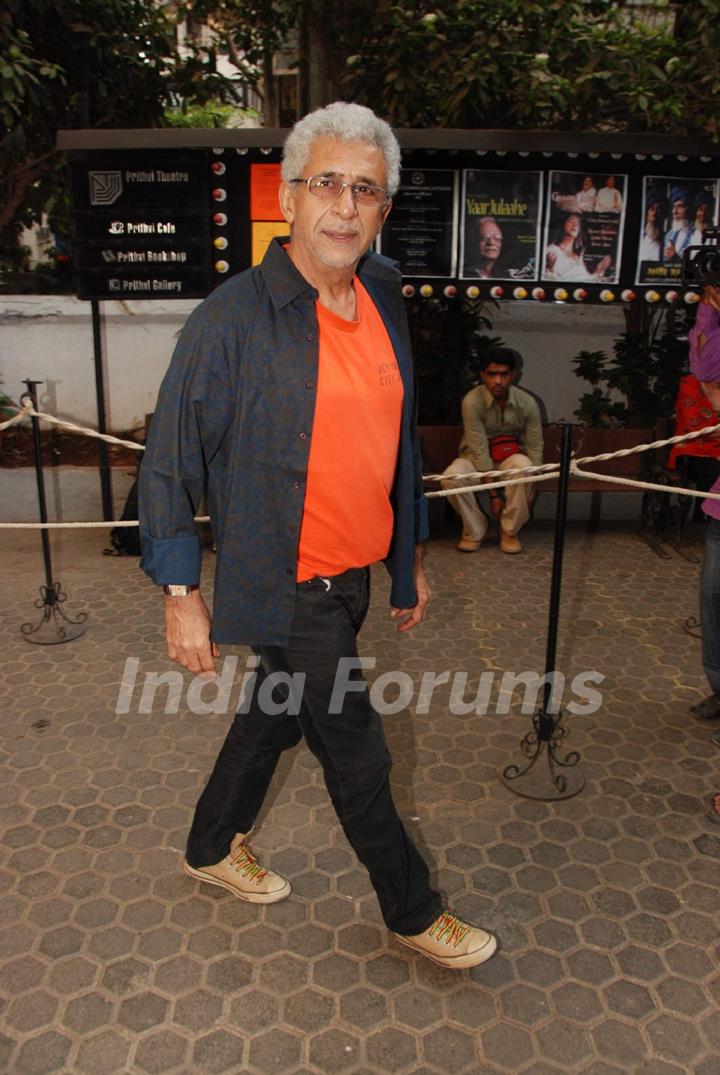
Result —
<path fill-rule="evenodd" d="M 35 411 L 29 399 L 24 399 L 20 410 L 12 418 L 0 422 L 0 432 L 17 425 L 24 418 L 41 418 L 54 426 L 60 426 L 71 433 L 80 433 L 84 436 L 93 436 L 99 441 L 106 441 L 109 444 L 117 444 L 125 448 L 132 448 L 135 452 L 144 452 L 145 445 L 135 441 L 124 441 L 110 433 L 99 433 L 96 429 L 88 429 L 77 426 L 73 421 L 64 418 L 56 418 L 54 415 L 45 414 L 43 411 Z M 605 452 L 599 456 L 582 456 L 571 461 L 571 477 L 584 477 L 594 482 L 607 482 L 610 485 L 624 485 L 631 489 L 652 489 L 658 492 L 675 492 L 680 497 L 696 497 L 703 500 L 720 500 L 720 493 L 704 492 L 697 489 L 686 489 L 682 486 L 667 486 L 656 482 L 637 482 L 634 478 L 616 477 L 611 474 L 594 474 L 592 471 L 581 470 L 580 465 L 587 463 L 607 462 L 610 459 L 620 459 L 623 456 L 636 455 L 640 452 L 654 452 L 657 448 L 664 448 L 671 444 L 682 444 L 686 441 L 694 441 L 700 436 L 708 436 L 711 433 L 720 432 L 720 422 L 716 426 L 707 426 L 704 429 L 694 430 L 691 433 L 683 433 L 678 436 L 669 436 L 662 441 L 652 441 L 649 444 L 636 444 L 632 448 L 619 448 L 617 452 Z M 504 471 L 471 471 L 465 474 L 423 474 L 423 482 L 464 482 L 473 478 L 483 478 L 475 485 L 462 485 L 456 489 L 433 489 L 426 492 L 428 499 L 432 497 L 451 497 L 455 492 L 488 492 L 490 489 L 500 489 L 508 485 L 534 485 L 539 482 L 550 482 L 558 476 L 560 463 L 542 463 L 538 467 L 517 467 Z M 488 482 L 488 477 L 496 477 L 496 482 Z M 210 522 L 210 516 L 197 516 L 196 522 Z M 104 522 L 0 522 L 2 530 L 90 530 L 95 527 L 136 527 L 136 519 L 117 519 Z"/>

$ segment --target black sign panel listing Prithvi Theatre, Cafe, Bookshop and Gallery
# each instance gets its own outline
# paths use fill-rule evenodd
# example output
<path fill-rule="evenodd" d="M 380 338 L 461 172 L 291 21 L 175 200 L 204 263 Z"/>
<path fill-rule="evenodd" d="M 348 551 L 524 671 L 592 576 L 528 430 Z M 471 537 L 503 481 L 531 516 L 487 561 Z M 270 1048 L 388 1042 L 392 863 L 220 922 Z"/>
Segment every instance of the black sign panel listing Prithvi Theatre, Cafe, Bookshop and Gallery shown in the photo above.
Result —
<path fill-rule="evenodd" d="M 224 242 L 213 196 L 227 197 L 213 183 L 224 172 L 206 153 L 107 152 L 73 160 L 81 298 L 207 295 Z"/>

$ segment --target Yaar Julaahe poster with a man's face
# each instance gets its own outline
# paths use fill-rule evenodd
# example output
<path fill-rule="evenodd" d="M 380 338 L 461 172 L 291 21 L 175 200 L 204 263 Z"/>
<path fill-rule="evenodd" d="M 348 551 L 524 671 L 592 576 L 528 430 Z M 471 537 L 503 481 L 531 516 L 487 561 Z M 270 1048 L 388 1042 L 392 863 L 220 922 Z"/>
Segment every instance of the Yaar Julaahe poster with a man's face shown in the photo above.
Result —
<path fill-rule="evenodd" d="M 541 172 L 463 172 L 464 280 L 537 280 Z"/>

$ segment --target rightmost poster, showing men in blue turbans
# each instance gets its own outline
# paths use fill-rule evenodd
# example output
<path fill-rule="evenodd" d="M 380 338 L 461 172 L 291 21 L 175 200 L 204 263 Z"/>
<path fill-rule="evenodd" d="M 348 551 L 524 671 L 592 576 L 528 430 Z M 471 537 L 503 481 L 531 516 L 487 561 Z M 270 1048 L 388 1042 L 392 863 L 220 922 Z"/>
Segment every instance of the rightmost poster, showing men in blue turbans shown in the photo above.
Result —
<path fill-rule="evenodd" d="M 635 283 L 678 283 L 686 248 L 717 219 L 718 180 L 646 175 Z"/>

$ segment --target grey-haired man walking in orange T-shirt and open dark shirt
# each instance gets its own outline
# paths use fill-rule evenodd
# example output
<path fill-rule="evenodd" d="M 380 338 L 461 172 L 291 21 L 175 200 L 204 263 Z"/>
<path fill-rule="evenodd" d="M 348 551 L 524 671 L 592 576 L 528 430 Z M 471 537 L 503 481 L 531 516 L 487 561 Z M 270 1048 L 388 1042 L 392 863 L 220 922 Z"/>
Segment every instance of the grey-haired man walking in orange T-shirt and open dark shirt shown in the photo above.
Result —
<path fill-rule="evenodd" d="M 292 129 L 279 187 L 289 240 L 199 306 L 163 382 L 140 483 L 142 565 L 165 589 L 171 658 L 212 674 L 217 644 L 242 643 L 259 661 L 260 689 L 198 803 L 186 872 L 256 903 L 290 893 L 246 840 L 280 752 L 304 736 L 388 928 L 466 968 L 489 959 L 495 938 L 444 909 L 430 886 L 392 801 L 356 645 L 369 564 L 386 561 L 400 631 L 430 599 L 400 276 L 368 254 L 399 177 L 398 142 L 369 109 L 337 102 Z M 192 522 L 205 477 L 212 621 Z M 275 699 L 285 690 L 282 713 L 261 704 L 269 680 Z"/>

